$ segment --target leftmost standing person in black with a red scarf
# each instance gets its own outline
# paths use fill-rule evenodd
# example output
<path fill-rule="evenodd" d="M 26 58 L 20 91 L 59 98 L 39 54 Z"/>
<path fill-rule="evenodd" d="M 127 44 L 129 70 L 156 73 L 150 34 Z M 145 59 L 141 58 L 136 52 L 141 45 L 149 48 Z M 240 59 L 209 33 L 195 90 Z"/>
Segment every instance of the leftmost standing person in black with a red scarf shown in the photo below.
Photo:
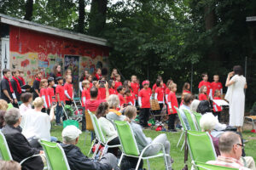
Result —
<path fill-rule="evenodd" d="M 3 69 L 3 79 L 1 81 L 1 99 L 4 99 L 7 103 L 17 104 L 14 88 L 9 81 L 11 73 L 9 69 Z"/>

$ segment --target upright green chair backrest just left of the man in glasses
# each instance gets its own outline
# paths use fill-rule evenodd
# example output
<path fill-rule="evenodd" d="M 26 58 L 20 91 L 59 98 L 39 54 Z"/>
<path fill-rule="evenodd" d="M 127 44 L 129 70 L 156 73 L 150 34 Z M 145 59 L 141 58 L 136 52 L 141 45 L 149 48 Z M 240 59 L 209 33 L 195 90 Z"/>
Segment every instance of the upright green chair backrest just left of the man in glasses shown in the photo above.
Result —
<path fill-rule="evenodd" d="M 217 159 L 209 133 L 188 131 L 187 138 L 191 160 L 207 162 Z"/>

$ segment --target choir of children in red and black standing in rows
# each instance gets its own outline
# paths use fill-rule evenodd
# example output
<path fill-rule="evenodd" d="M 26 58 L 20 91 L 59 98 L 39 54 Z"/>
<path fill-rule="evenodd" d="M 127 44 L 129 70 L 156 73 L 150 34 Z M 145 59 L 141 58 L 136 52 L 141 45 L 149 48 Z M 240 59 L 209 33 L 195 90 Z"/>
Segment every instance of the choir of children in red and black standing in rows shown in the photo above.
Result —
<path fill-rule="evenodd" d="M 12 74 L 12 78 L 11 77 Z M 35 80 L 33 82 L 33 95 L 26 93 L 26 90 L 21 89 L 23 85 L 26 85 L 24 80 L 24 72 L 19 70 L 9 71 L 3 69 L 3 80 L 1 81 L 1 99 L 6 100 L 8 103 L 13 103 L 16 107 L 18 101 L 21 101 L 20 109 L 26 111 L 31 108 L 32 98 L 40 96 L 44 99 L 44 110 L 49 112 L 49 108 L 53 105 L 53 102 L 57 101 L 56 106 L 56 125 L 61 125 L 61 116 L 63 115 L 62 106 L 72 105 L 74 98 L 73 91 L 73 77 L 72 71 L 67 70 L 65 77 L 61 77 L 61 73 L 58 77 L 49 77 L 49 79 L 42 79 L 40 71 L 36 72 Z M 65 83 L 63 85 L 63 80 Z M 92 82 L 92 80 L 95 80 Z M 223 86 L 219 81 L 218 75 L 213 76 L 213 82 L 208 82 L 207 73 L 202 74 L 202 81 L 199 83 L 199 96 L 200 100 L 221 99 L 223 94 Z M 57 82 L 57 85 L 55 85 Z M 108 87 L 106 84 L 108 83 Z M 97 100 L 107 99 L 106 89 L 108 88 L 108 95 L 116 94 L 119 97 L 119 109 L 126 107 L 127 105 L 139 106 L 139 123 L 143 127 L 148 127 L 148 116 L 150 115 L 150 99 L 157 99 L 160 105 L 160 111 L 166 106 L 166 112 L 169 115 L 168 129 L 170 132 L 176 132 L 175 120 L 177 117 L 177 111 L 175 107 L 177 104 L 177 84 L 171 79 L 165 84 L 162 77 L 157 77 L 157 80 L 153 86 L 153 91 L 149 88 L 149 81 L 145 80 L 142 83 L 143 88 L 140 88 L 139 80 L 137 76 L 131 76 L 130 80 L 121 82 L 121 77 L 116 69 L 113 69 L 110 80 L 107 82 L 106 77 L 102 77 L 102 70 L 97 69 L 95 78 L 88 71 L 84 71 L 82 77 L 79 79 L 79 91 L 81 93 L 81 104 L 85 111 L 85 102 L 90 100 L 90 88 L 95 87 L 97 91 Z M 23 94 L 22 94 L 23 93 Z M 183 85 L 183 91 L 181 95 L 181 103 L 183 105 L 183 99 L 186 94 L 191 94 L 189 82 L 185 82 Z M 214 95 L 213 95 L 214 94 Z M 160 111 L 158 114 L 160 114 Z M 222 108 L 213 102 L 213 112 L 216 116 L 219 116 Z M 158 118 L 157 118 L 158 119 Z M 158 119 L 160 121 L 160 119 Z M 85 117 L 83 121 L 85 123 Z M 83 130 L 85 130 L 85 124 L 82 123 Z"/>

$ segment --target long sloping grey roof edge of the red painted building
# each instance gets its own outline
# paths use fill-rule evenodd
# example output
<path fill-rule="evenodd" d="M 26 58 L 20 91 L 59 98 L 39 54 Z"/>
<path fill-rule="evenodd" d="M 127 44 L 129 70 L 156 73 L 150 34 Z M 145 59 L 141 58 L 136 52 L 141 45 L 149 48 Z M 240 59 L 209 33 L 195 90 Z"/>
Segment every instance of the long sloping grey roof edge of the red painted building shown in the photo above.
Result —
<path fill-rule="evenodd" d="M 73 40 L 79 40 L 82 42 L 90 42 L 97 45 L 107 46 L 107 40 L 103 38 L 87 36 L 73 31 L 61 30 L 53 26 L 45 26 L 28 20 L 20 20 L 5 14 L 0 14 L 0 22 L 11 26 L 26 28 L 32 31 L 44 32 L 55 36 L 67 37 Z"/>

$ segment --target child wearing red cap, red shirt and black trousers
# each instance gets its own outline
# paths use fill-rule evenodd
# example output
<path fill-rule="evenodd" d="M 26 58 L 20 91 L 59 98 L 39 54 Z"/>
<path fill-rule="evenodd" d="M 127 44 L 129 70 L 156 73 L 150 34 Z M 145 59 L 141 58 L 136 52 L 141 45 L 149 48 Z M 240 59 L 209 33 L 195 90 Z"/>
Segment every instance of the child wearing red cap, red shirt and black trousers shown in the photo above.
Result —
<path fill-rule="evenodd" d="M 143 89 L 138 94 L 138 104 L 140 106 L 140 124 L 143 127 L 148 127 L 148 116 L 150 110 L 150 96 L 152 94 L 151 89 L 149 87 L 149 82 L 143 81 Z"/>

